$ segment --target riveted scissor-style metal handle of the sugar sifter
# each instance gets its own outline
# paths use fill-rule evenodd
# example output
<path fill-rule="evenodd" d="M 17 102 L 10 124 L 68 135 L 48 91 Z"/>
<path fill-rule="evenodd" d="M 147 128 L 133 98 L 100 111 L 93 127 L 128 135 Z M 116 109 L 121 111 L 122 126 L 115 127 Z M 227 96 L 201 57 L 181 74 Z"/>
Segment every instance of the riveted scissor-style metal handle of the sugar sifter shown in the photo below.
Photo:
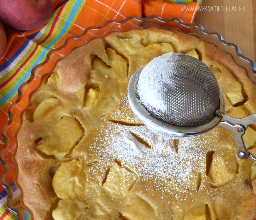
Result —
<path fill-rule="evenodd" d="M 220 126 L 230 131 L 237 145 L 237 156 L 241 159 L 252 158 L 256 161 L 256 156 L 251 154 L 245 147 L 243 135 L 245 134 L 248 125 L 256 122 L 256 114 L 249 115 L 244 118 L 234 118 L 227 114 L 220 114 L 224 121 L 219 123 Z"/>

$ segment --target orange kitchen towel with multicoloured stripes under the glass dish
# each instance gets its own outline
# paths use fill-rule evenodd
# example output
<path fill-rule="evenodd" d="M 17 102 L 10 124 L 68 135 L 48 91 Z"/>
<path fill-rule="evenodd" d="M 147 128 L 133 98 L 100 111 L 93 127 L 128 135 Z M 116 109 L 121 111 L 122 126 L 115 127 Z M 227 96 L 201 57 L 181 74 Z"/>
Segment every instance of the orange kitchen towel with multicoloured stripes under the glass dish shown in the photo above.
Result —
<path fill-rule="evenodd" d="M 66 38 L 81 34 L 89 26 L 99 26 L 110 19 L 122 20 L 132 15 L 177 17 L 191 23 L 196 11 L 186 10 L 187 6 L 201 4 L 201 0 L 55 0 L 55 5 L 60 2 L 61 6 L 53 12 L 48 23 L 36 30 L 18 31 L 6 27 L 8 47 L 0 58 L 0 131 L 8 121 L 8 107 L 17 99 L 19 86 L 28 80 L 33 67 L 43 62 L 47 53 L 60 47 Z M 3 188 L 0 191 L 0 220 L 16 219 L 7 210 L 6 192 Z M 19 198 L 15 195 L 19 195 L 18 191 L 14 192 L 17 201 Z M 25 218 L 29 219 L 29 214 Z"/>

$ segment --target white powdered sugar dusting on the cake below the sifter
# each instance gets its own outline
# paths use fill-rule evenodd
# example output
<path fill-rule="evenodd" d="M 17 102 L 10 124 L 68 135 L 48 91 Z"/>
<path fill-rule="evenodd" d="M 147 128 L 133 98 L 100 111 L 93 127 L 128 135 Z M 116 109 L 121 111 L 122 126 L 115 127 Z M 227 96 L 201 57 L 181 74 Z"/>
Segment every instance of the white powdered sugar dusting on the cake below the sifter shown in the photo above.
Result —
<path fill-rule="evenodd" d="M 179 140 L 179 148 L 175 146 L 176 140 L 157 135 L 146 126 L 107 124 L 108 136 L 99 137 L 103 161 L 117 159 L 143 180 L 155 180 L 155 186 L 168 182 L 172 187 L 185 190 L 196 187 L 198 173 L 204 172 L 205 155 L 209 151 L 207 147 L 200 147 L 207 146 L 203 135 Z"/>

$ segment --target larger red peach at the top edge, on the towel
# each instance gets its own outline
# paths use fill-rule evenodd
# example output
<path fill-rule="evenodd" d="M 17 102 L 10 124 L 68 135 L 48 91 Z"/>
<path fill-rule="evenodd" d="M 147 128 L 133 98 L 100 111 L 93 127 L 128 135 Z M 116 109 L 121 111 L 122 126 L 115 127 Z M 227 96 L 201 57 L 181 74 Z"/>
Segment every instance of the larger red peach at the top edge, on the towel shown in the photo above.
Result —
<path fill-rule="evenodd" d="M 53 0 L 0 0 L 0 20 L 19 30 L 33 30 L 51 16 Z"/>

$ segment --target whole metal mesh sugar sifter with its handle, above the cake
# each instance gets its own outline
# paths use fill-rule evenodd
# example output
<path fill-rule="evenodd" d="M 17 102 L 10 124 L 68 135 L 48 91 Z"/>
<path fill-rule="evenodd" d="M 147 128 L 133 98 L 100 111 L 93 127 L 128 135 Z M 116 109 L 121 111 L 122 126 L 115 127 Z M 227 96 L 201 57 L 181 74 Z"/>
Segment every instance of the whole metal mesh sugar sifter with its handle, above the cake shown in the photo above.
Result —
<path fill-rule="evenodd" d="M 137 70 L 129 81 L 128 100 L 153 131 L 181 138 L 220 125 L 233 134 L 237 156 L 256 161 L 242 137 L 248 125 L 256 122 L 256 113 L 244 118 L 225 114 L 225 99 L 214 74 L 192 56 L 171 52 Z"/>

